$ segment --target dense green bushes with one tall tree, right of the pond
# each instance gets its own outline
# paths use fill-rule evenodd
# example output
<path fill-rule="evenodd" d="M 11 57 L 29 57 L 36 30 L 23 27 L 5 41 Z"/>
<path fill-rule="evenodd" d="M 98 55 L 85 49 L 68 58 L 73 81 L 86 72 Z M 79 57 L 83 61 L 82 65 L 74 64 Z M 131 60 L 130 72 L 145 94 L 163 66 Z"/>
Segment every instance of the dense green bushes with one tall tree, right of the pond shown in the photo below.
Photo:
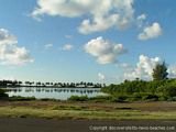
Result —
<path fill-rule="evenodd" d="M 176 79 L 167 78 L 165 63 L 157 64 L 153 69 L 153 80 L 146 81 L 136 78 L 124 80 L 120 85 L 110 85 L 102 88 L 113 101 L 176 101 Z"/>

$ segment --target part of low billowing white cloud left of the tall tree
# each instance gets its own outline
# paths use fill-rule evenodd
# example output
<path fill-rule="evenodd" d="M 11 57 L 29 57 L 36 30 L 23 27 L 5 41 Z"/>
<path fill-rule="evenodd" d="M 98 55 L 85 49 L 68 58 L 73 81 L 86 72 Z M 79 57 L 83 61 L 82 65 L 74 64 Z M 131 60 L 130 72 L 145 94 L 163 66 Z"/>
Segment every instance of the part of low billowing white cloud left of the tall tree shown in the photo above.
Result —
<path fill-rule="evenodd" d="M 135 78 L 152 79 L 152 73 L 156 64 L 162 63 L 160 57 L 148 57 L 140 55 L 136 66 L 131 72 L 124 73 L 124 79 L 133 80 Z"/>

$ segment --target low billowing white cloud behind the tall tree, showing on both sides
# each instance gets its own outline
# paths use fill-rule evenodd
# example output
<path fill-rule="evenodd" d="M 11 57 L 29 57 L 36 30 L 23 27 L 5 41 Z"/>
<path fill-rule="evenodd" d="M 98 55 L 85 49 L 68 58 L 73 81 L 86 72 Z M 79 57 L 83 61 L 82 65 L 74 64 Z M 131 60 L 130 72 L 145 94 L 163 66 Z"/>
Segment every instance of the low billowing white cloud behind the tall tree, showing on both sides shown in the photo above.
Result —
<path fill-rule="evenodd" d="M 123 79 L 134 80 L 135 78 L 151 80 L 153 69 L 156 64 L 162 64 L 163 61 L 160 57 L 148 57 L 140 55 L 139 62 L 135 67 L 124 67 Z M 176 65 L 167 66 L 168 78 L 176 78 Z"/>

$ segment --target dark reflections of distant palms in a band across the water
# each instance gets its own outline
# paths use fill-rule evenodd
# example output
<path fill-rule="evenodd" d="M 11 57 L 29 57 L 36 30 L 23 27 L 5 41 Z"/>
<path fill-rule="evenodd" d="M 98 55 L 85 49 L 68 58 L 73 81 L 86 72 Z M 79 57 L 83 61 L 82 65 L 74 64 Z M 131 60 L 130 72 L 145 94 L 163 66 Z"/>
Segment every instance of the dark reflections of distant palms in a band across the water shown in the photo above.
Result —
<path fill-rule="evenodd" d="M 100 89 L 69 89 L 69 88 L 8 88 L 9 92 L 58 92 L 58 94 L 98 94 Z"/>

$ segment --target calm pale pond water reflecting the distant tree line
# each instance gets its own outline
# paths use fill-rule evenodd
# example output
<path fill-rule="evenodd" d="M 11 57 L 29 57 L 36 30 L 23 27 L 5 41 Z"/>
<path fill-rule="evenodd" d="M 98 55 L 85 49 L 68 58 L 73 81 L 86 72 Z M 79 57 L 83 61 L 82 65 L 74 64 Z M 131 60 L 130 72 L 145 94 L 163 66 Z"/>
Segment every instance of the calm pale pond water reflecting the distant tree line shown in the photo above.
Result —
<path fill-rule="evenodd" d="M 20 87 L 7 88 L 8 95 L 21 97 L 35 97 L 36 99 L 59 99 L 67 100 L 72 96 L 102 96 L 100 88 L 38 88 L 38 87 Z"/>

